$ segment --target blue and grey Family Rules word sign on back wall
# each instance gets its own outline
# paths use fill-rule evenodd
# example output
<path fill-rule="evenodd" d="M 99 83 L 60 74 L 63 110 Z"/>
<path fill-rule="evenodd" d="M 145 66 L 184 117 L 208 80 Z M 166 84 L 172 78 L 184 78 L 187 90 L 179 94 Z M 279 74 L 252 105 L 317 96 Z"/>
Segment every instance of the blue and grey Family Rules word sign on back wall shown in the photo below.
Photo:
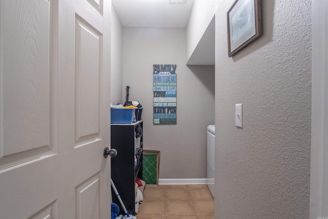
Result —
<path fill-rule="evenodd" d="M 154 124 L 176 124 L 176 65 L 153 65 Z"/>

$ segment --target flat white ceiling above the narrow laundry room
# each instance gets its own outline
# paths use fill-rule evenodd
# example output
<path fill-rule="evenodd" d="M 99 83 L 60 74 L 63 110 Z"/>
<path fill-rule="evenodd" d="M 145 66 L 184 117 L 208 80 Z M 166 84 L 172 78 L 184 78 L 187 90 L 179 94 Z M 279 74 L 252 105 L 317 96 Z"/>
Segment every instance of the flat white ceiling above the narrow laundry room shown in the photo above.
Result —
<path fill-rule="evenodd" d="M 194 0 L 112 0 L 123 27 L 186 28 L 193 4 Z"/>

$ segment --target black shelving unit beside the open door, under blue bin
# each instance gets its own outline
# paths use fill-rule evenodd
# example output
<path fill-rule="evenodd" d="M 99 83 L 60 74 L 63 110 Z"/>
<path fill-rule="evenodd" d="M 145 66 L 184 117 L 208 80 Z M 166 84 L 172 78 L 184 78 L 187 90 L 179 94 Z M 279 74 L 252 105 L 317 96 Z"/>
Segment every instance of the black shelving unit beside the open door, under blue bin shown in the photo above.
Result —
<path fill-rule="evenodd" d="M 140 145 L 135 149 L 135 129 L 142 129 L 142 121 L 133 124 L 111 125 L 111 147 L 117 150 L 117 156 L 111 158 L 111 177 L 129 214 L 135 214 L 135 178 L 142 180 L 142 136 Z M 137 156 L 136 165 L 134 156 Z M 120 207 L 120 214 L 125 215 L 118 198 L 112 189 L 113 203 Z"/>

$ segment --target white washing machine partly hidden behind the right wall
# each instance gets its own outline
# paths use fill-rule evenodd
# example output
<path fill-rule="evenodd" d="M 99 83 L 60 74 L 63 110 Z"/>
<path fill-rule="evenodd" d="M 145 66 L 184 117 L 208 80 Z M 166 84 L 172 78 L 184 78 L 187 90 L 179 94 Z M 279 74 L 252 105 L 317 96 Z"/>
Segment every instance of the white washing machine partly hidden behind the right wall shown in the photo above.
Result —
<path fill-rule="evenodd" d="M 215 125 L 207 127 L 207 186 L 214 197 Z"/>

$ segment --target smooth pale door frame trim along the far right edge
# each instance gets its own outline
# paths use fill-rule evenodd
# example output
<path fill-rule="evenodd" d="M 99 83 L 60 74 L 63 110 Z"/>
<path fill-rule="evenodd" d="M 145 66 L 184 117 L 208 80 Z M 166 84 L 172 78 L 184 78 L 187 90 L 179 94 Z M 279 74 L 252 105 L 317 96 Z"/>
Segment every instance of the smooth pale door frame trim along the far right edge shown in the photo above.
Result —
<path fill-rule="evenodd" d="M 310 218 L 328 217 L 328 1 L 312 2 Z"/>

